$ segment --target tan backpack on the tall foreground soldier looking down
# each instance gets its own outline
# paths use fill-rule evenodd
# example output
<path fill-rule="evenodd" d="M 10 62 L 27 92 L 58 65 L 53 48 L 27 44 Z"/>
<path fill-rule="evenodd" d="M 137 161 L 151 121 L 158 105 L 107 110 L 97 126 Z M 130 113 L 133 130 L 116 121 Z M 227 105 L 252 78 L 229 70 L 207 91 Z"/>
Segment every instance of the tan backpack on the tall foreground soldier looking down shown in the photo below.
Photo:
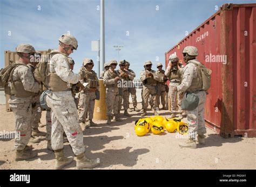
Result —
<path fill-rule="evenodd" d="M 50 63 L 51 57 L 55 54 L 63 54 L 63 53 L 58 51 L 53 51 L 52 49 L 48 49 L 47 54 L 41 58 L 41 60 L 37 64 L 34 71 L 35 80 L 43 84 L 43 86 L 46 89 L 49 88 L 49 84 L 48 84 L 48 76 L 50 75 L 49 63 Z M 43 88 L 43 90 L 45 90 L 45 88 Z"/>

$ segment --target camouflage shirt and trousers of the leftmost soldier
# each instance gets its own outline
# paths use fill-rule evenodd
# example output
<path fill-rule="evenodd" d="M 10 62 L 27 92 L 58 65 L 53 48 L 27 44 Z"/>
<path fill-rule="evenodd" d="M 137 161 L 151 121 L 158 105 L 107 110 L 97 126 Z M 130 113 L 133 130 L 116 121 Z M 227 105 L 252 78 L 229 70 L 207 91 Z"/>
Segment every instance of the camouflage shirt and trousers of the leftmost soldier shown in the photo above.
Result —
<path fill-rule="evenodd" d="M 22 63 L 17 61 L 16 63 Z M 25 64 L 24 64 L 25 65 Z M 33 74 L 28 66 L 18 66 L 12 73 L 13 81 L 21 81 L 23 87 L 28 92 L 37 93 L 39 91 L 39 84 L 35 82 Z M 23 150 L 28 144 L 31 136 L 31 119 L 32 119 L 32 93 L 29 97 L 18 97 L 10 95 L 9 104 L 15 116 L 15 129 L 21 133 L 19 137 L 15 138 L 15 149 Z"/>

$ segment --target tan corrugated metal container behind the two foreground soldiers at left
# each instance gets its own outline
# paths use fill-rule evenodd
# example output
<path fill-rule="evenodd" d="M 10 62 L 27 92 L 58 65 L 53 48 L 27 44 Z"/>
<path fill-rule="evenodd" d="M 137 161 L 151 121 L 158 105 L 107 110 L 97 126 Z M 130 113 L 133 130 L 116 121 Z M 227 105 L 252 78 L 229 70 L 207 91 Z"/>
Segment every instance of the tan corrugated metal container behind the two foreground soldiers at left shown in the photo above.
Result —
<path fill-rule="evenodd" d="M 48 52 L 48 50 L 47 51 L 38 51 L 38 52 L 40 52 L 41 55 L 45 55 Z M 19 59 L 19 56 L 17 55 L 16 52 L 4 51 L 4 67 L 6 67 L 10 64 L 10 60 L 16 61 L 18 59 Z M 8 100 L 9 100 L 9 95 L 5 95 L 6 111 L 10 112 L 11 109 L 10 109 Z"/>

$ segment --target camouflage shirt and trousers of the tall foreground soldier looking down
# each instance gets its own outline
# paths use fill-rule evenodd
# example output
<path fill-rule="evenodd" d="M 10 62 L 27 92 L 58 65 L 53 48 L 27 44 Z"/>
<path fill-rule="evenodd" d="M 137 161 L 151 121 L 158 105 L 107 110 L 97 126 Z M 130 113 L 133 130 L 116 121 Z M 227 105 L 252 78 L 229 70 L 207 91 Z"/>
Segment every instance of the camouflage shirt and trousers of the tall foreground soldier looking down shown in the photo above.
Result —
<path fill-rule="evenodd" d="M 78 74 L 70 70 L 69 62 L 63 54 L 55 54 L 50 60 L 50 73 L 56 73 L 67 84 L 76 84 L 80 80 Z M 84 153 L 83 132 L 78 123 L 78 113 L 71 90 L 51 91 L 46 97 L 51 108 L 51 147 L 53 150 L 63 149 L 63 132 L 75 155 Z"/>

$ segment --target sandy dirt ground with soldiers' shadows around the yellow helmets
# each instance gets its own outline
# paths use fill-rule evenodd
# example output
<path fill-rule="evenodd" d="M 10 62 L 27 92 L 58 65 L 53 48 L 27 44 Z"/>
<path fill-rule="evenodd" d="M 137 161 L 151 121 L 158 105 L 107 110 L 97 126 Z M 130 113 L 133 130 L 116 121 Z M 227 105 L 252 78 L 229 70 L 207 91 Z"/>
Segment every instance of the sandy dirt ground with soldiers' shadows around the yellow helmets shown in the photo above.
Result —
<path fill-rule="evenodd" d="M 139 107 L 141 107 L 139 105 Z M 207 128 L 206 145 L 197 149 L 180 148 L 178 143 L 185 141 L 177 133 L 152 133 L 138 137 L 134 133 L 134 121 L 141 112 L 122 122 L 107 125 L 106 121 L 95 121 L 98 125 L 84 131 L 85 153 L 98 159 L 96 169 L 256 169 L 255 138 L 224 139 Z M 148 111 L 149 116 L 153 115 Z M 161 116 L 170 115 L 160 111 Z M 45 111 L 41 121 L 45 124 Z M 46 132 L 45 127 L 39 130 Z M 14 114 L 5 111 L 0 105 L 0 131 L 11 132 L 14 128 Z M 33 144 L 38 157 L 29 161 L 15 162 L 14 139 L 0 140 L 0 169 L 54 169 L 55 156 L 46 149 L 47 141 Z M 69 143 L 64 143 L 66 156 L 74 156 Z M 73 161 L 65 169 L 75 169 Z"/>

